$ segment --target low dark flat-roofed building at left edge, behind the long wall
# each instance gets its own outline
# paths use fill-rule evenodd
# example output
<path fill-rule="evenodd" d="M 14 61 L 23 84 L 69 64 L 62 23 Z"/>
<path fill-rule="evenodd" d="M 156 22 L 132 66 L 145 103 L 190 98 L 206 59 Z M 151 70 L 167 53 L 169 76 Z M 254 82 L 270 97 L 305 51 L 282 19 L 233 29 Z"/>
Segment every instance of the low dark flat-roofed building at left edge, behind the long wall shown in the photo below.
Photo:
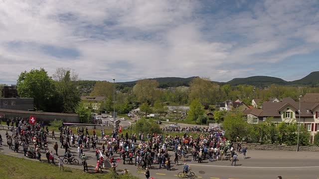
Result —
<path fill-rule="evenodd" d="M 33 111 L 33 98 L 0 98 L 1 109 L 12 109 L 22 111 Z"/>

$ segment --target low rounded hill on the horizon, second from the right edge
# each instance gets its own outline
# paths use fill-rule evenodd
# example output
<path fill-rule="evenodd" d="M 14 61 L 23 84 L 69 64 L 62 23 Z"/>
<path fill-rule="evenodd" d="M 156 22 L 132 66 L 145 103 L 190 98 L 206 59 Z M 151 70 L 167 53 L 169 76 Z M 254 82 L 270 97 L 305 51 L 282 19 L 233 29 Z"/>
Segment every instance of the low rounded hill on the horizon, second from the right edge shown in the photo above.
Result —
<path fill-rule="evenodd" d="M 283 79 L 276 78 L 276 77 L 267 77 L 267 76 L 235 78 L 229 82 L 226 82 L 226 84 L 229 84 L 231 86 L 252 85 L 257 87 L 266 87 L 266 86 L 270 86 L 271 84 L 286 85 L 287 83 L 288 82 Z"/>

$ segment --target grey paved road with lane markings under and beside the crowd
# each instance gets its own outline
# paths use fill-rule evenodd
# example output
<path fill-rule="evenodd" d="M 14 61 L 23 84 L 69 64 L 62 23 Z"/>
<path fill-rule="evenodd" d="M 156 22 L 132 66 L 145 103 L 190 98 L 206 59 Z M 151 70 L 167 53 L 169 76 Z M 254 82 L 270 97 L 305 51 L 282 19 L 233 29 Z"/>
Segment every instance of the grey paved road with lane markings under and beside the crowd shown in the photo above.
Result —
<path fill-rule="evenodd" d="M 0 131 L 2 135 L 3 144 L 6 144 L 5 131 Z M 9 132 L 11 134 L 11 132 Z M 53 143 L 58 140 L 51 140 L 49 138 L 49 148 L 53 150 Z M 22 147 L 20 147 L 20 150 Z M 77 157 L 77 149 L 71 148 L 71 151 Z M 15 153 L 9 150 L 6 145 L 0 146 L 0 152 L 8 155 L 22 157 L 23 151 Z M 84 150 L 88 156 L 89 170 L 94 170 L 96 165 L 95 151 Z M 58 150 L 59 155 L 64 154 L 64 149 Z M 319 179 L 319 153 L 318 152 L 293 152 L 293 151 L 250 151 L 247 156 L 249 159 L 243 160 L 242 155 L 239 154 L 238 166 L 233 167 L 229 161 L 215 161 L 208 162 L 207 160 L 199 164 L 197 162 L 187 161 L 191 166 L 192 172 L 195 173 L 199 179 L 277 179 L 281 175 L 284 179 Z M 117 154 L 115 154 L 118 156 Z M 171 153 L 171 155 L 173 155 Z M 42 155 L 43 160 L 45 155 Z M 173 157 L 172 157 L 173 158 Z M 128 163 L 128 162 L 126 162 Z M 181 162 L 180 162 L 181 163 Z M 66 165 L 69 166 L 69 165 Z M 81 166 L 72 166 L 82 169 Z M 110 164 L 106 162 L 106 168 Z M 134 165 L 123 165 L 121 161 L 118 166 L 118 172 L 127 168 L 130 173 L 144 177 L 144 171 L 138 171 Z M 151 176 L 155 179 L 173 179 L 177 178 L 177 173 L 182 170 L 182 164 L 178 166 L 172 165 L 172 170 L 159 169 L 159 165 L 154 165 L 151 170 Z M 106 169 L 106 171 L 109 171 Z"/>

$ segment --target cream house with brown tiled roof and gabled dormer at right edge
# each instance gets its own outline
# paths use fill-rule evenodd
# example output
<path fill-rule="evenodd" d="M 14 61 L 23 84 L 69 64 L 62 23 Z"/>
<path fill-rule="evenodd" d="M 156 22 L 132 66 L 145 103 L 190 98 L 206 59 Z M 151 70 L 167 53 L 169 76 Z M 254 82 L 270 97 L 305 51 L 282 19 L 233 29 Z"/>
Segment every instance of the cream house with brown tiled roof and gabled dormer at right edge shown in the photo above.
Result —
<path fill-rule="evenodd" d="M 297 122 L 304 125 L 311 133 L 310 141 L 313 142 L 314 136 L 319 130 L 319 102 L 299 102 L 291 99 L 284 99 L 280 102 L 263 103 L 263 119 L 273 117 L 272 122 L 292 123 Z M 276 124 L 277 125 L 277 124 Z"/>

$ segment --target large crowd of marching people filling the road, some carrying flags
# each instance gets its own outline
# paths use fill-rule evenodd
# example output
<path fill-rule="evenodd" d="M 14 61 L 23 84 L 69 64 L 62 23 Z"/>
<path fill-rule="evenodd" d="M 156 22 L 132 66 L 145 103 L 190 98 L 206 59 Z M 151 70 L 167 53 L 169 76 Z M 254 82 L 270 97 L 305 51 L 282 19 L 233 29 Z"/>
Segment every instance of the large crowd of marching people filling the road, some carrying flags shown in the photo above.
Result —
<path fill-rule="evenodd" d="M 12 134 L 10 135 L 8 132 L 5 134 L 9 149 L 18 152 L 19 146 L 22 146 L 25 156 L 36 158 L 39 161 L 44 153 L 47 163 L 55 165 L 55 160 L 58 161 L 60 170 L 63 170 L 62 159 L 64 157 L 72 158 L 70 151 L 72 147 L 77 148 L 78 159 L 81 161 L 84 172 L 88 172 L 88 165 L 83 150 L 90 151 L 93 148 L 97 161 L 95 168 L 97 173 L 103 172 L 105 162 L 110 163 L 114 172 L 116 172 L 119 163 L 123 162 L 123 165 L 135 165 L 137 169 L 146 170 L 146 177 L 150 177 L 150 170 L 157 168 L 155 166 L 170 171 L 173 163 L 178 165 L 179 160 L 186 162 L 188 155 L 191 155 L 192 161 L 198 163 L 203 160 L 209 160 L 209 162 L 213 162 L 214 159 L 215 161 L 223 160 L 229 155 L 233 159 L 234 165 L 236 165 L 238 157 L 234 151 L 233 143 L 227 141 L 224 137 L 224 131 L 218 128 L 183 127 L 179 129 L 183 132 L 180 136 L 145 135 L 141 132 L 129 135 L 128 133 L 120 134 L 117 130 L 113 130 L 111 135 L 106 135 L 104 130 L 101 130 L 100 137 L 98 137 L 94 129 L 90 135 L 87 127 L 76 127 L 73 131 L 69 126 L 61 126 L 58 139 L 56 131 L 50 132 L 51 138 L 59 140 L 60 143 L 58 145 L 58 142 L 54 142 L 55 152 L 52 152 L 48 148 L 48 127 L 43 122 L 31 125 L 23 118 L 16 118 L 7 124 L 12 126 Z M 188 131 L 198 132 L 197 136 L 188 135 Z M 58 155 L 59 148 L 63 148 L 64 156 Z M 168 149 L 171 149 L 173 153 L 168 153 Z M 237 152 L 241 152 L 240 150 L 240 145 L 238 145 Z M 245 157 L 247 148 L 244 148 L 242 152 Z M 171 157 L 174 159 L 172 160 Z M 124 173 L 127 174 L 127 170 Z"/>

